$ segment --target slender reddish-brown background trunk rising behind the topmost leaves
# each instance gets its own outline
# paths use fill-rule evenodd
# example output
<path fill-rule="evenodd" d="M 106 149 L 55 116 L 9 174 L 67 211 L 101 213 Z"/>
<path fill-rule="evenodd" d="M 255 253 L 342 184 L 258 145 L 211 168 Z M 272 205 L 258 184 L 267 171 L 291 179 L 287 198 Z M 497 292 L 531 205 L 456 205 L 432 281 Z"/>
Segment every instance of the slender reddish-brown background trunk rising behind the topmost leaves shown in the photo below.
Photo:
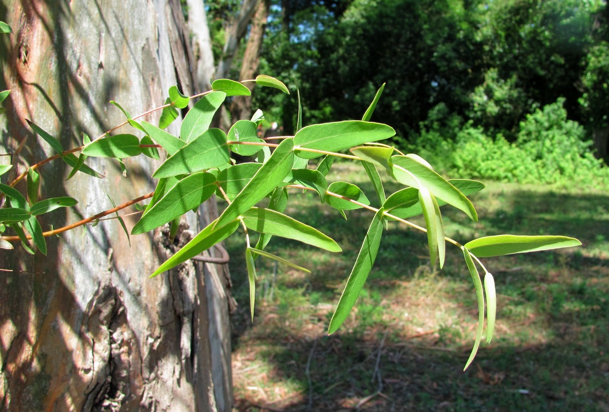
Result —
<path fill-rule="evenodd" d="M 253 79 L 260 65 L 260 49 L 264 32 L 266 31 L 267 19 L 269 18 L 270 0 L 260 0 L 250 25 L 250 36 L 247 39 L 245 53 L 241 62 L 241 73 L 239 80 Z M 256 83 L 245 83 L 252 90 Z M 233 123 L 241 119 L 249 119 L 252 116 L 252 96 L 233 97 L 231 103 L 231 116 Z"/>

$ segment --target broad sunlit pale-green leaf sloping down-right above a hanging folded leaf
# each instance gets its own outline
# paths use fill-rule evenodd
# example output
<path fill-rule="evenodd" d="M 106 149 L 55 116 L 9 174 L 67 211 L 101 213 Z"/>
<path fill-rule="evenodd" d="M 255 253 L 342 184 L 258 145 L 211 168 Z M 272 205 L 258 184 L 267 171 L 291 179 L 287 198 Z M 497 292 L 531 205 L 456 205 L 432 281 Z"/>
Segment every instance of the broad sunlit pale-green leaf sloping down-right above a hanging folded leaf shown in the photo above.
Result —
<path fill-rule="evenodd" d="M 435 197 L 465 212 L 472 220 L 478 220 L 478 214 L 471 201 L 434 170 L 424 166 L 412 156 L 392 156 L 391 159 L 393 177 L 397 181 L 417 189 L 420 189 L 418 187 L 420 184 L 424 185 Z"/>

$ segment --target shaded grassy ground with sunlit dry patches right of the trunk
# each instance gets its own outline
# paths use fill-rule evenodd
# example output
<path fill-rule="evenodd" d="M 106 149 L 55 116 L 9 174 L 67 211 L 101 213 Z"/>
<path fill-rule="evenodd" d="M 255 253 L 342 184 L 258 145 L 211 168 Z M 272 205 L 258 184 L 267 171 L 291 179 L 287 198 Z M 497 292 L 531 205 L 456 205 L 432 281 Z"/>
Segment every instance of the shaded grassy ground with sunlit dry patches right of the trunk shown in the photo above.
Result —
<path fill-rule="evenodd" d="M 345 178 L 358 179 L 348 167 L 335 180 Z M 477 306 L 462 254 L 447 245 L 439 271 L 429 265 L 424 234 L 394 223 L 356 309 L 327 335 L 372 215 L 348 212 L 345 221 L 315 196 L 292 193 L 290 214 L 329 234 L 343 253 L 273 239 L 269 251 L 312 273 L 258 259 L 253 323 L 244 240 L 227 242 L 239 302 L 236 410 L 609 411 L 608 195 L 491 183 L 473 197 L 479 222 L 443 208 L 447 235 L 456 240 L 564 234 L 583 243 L 484 260 L 495 275 L 498 323 L 466 372 Z"/>

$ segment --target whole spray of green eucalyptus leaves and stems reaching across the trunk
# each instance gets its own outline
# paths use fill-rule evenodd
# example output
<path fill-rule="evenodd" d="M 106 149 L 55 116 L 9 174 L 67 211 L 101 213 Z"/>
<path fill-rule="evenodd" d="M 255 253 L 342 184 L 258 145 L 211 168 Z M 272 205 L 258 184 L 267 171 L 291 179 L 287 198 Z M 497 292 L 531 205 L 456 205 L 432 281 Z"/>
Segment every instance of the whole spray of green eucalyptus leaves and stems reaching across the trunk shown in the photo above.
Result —
<path fill-rule="evenodd" d="M 260 75 L 248 81 L 289 93 L 284 83 L 269 76 Z M 76 199 L 70 197 L 38 197 L 40 175 L 37 170 L 47 162 L 65 161 L 72 167 L 68 178 L 77 172 L 99 178 L 99 173 L 85 164 L 89 156 L 118 159 L 124 167 L 122 159 L 145 155 L 160 160 L 160 152 L 164 152 L 164 161 L 152 173 L 152 178 L 158 180 L 153 194 L 116 206 L 81 223 L 95 223 L 101 215 L 113 214 L 144 198 L 150 198 L 149 203 L 141 205 L 143 213 L 131 234 L 152 231 L 166 223 L 169 223 L 174 231 L 182 215 L 196 210 L 200 204 L 216 195 L 227 203 L 222 214 L 161 264 L 151 277 L 208 250 L 242 226 L 246 238 L 244 253 L 253 319 L 256 259 L 273 259 L 298 270 L 309 271 L 265 251 L 273 236 L 298 240 L 333 253 L 341 251 L 338 243 L 331 237 L 286 214 L 292 195 L 288 189 L 311 190 L 319 195 L 321 203 L 337 209 L 345 217 L 348 211 L 353 209 L 365 208 L 371 212 L 370 227 L 353 270 L 347 278 L 328 332 L 336 332 L 353 308 L 375 263 L 387 223 L 401 222 L 426 232 L 430 259 L 432 263 L 439 262 L 440 267 L 443 267 L 445 262 L 446 243 L 460 248 L 463 252 L 466 267 L 473 280 L 479 310 L 479 324 L 471 356 L 465 365 L 467 368 L 482 340 L 485 317 L 487 341 L 493 337 L 495 326 L 495 281 L 479 258 L 577 246 L 580 242 L 563 236 L 502 235 L 482 237 L 462 245 L 446 237 L 440 207 L 448 204 L 475 222 L 478 218 L 476 209 L 467 195 L 482 190 L 484 184 L 474 180 L 446 180 L 420 156 L 404 154 L 395 147 L 383 144 L 382 141 L 392 138 L 395 130 L 389 125 L 370 122 L 382 89 L 383 87 L 379 89 L 361 120 L 301 127 L 299 116 L 294 136 L 283 136 L 279 144 L 258 137 L 258 125 L 264 120 L 261 111 L 256 111 L 251 120 L 239 120 L 228 133 L 218 128 L 210 128 L 214 114 L 227 97 L 250 94 L 249 89 L 242 83 L 227 79 L 216 80 L 211 91 L 192 97 L 183 96 L 177 87 L 172 86 L 166 105 L 158 108 L 163 111 L 156 125 L 138 121 L 143 114 L 132 117 L 121 105 L 112 102 L 127 117 L 122 125 L 130 125 L 133 128 L 132 133 L 107 133 L 93 141 L 85 135 L 85 145 L 71 150 L 65 150 L 58 139 L 29 122 L 33 131 L 57 154 L 28 167 L 26 172 L 7 184 L 0 183 L 1 196 L 6 200 L 4 207 L 0 209 L 0 247 L 12 249 L 10 242 L 20 241 L 29 253 L 39 251 L 46 254 L 46 236 L 76 227 L 71 225 L 43 232 L 38 222 L 38 216 L 41 214 L 50 213 L 57 208 L 69 208 L 77 203 Z M 4 100 L 8 95 L 9 91 L 4 91 L 0 93 L 0 99 Z M 184 117 L 179 136 L 164 131 L 163 129 L 177 118 L 177 109 L 186 108 L 195 97 L 200 99 Z M 113 128 L 113 131 L 117 128 Z M 250 156 L 255 158 L 255 161 L 237 164 L 232 159 L 234 154 Z M 367 173 L 375 187 L 380 208 L 370 206 L 364 192 L 355 184 L 328 181 L 326 176 L 337 157 L 348 158 L 361 165 L 362 173 Z M 316 159 L 315 167 L 312 166 L 311 159 Z M 0 166 L 0 175 L 5 175 L 11 169 L 10 165 Z M 402 188 L 389 195 L 385 193 L 380 173 L 386 173 L 389 178 L 401 184 Z M 26 195 L 15 189 L 16 184 L 23 180 L 27 183 Z M 421 214 L 424 216 L 426 228 L 407 220 Z M 126 231 L 122 218 L 118 216 L 118 220 Z M 15 236 L 7 234 L 9 229 L 15 232 Z M 257 237 L 253 239 L 255 235 Z"/>

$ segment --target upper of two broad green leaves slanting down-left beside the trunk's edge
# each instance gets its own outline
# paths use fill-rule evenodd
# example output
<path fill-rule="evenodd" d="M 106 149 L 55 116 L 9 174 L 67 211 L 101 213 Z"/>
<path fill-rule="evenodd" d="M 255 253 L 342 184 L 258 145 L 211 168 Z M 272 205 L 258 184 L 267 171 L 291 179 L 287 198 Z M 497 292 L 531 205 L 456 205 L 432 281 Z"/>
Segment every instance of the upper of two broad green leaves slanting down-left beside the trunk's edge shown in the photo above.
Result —
<path fill-rule="evenodd" d="M 220 129 L 209 129 L 167 159 L 152 174 L 153 178 L 164 178 L 200 172 L 212 167 L 225 166 L 230 162 L 227 136 Z"/>

